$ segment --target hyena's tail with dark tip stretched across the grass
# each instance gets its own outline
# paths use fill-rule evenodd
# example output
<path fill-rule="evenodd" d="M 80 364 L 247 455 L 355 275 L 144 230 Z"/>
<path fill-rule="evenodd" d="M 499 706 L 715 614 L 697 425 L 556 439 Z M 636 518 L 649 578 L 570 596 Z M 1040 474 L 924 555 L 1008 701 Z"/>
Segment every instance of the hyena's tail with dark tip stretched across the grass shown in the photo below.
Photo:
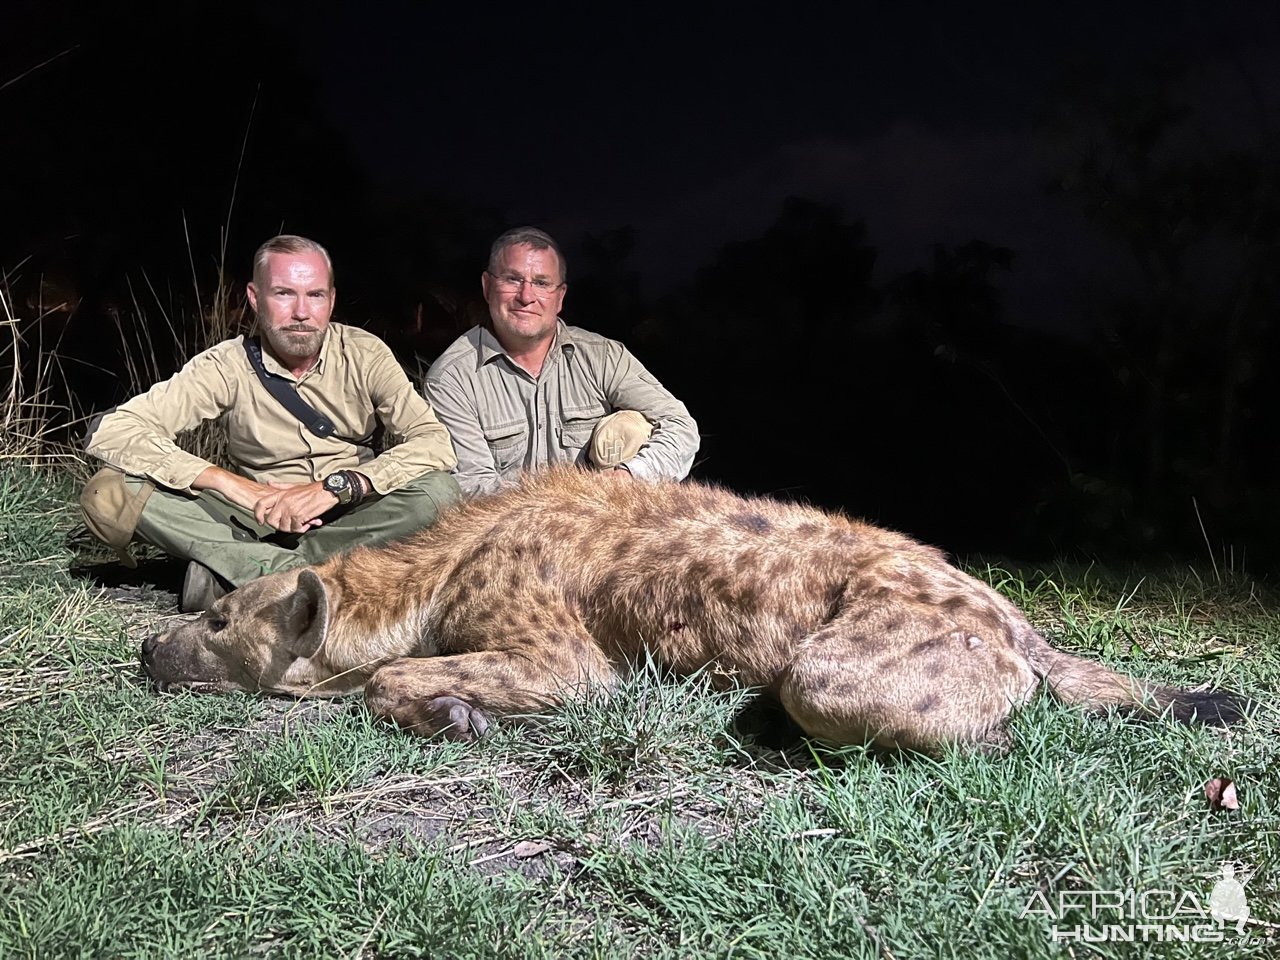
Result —
<path fill-rule="evenodd" d="M 1167 714 L 1179 723 L 1225 727 L 1244 719 L 1254 704 L 1229 690 L 1192 691 L 1128 677 L 1053 648 L 1028 627 L 1019 637 L 1032 669 L 1062 703 L 1117 707 L 1144 716 Z"/>

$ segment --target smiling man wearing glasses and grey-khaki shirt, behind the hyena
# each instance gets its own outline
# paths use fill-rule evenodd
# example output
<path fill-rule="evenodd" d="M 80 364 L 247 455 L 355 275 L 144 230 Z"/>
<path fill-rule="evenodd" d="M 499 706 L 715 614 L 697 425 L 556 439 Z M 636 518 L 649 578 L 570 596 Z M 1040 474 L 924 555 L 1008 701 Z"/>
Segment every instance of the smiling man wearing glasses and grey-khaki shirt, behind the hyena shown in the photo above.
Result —
<path fill-rule="evenodd" d="M 507 230 L 480 276 L 490 323 L 431 365 L 425 393 L 449 429 L 466 494 L 522 470 L 579 463 L 641 480 L 681 480 L 698 425 L 617 340 L 559 319 L 564 255 L 532 227 Z"/>

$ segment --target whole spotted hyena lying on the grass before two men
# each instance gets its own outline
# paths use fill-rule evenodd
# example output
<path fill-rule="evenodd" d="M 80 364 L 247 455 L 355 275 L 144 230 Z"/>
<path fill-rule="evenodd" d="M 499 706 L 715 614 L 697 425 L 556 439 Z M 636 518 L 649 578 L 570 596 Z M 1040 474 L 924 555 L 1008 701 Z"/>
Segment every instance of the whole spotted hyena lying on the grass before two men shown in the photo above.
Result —
<path fill-rule="evenodd" d="M 900 534 L 572 467 L 402 543 L 251 582 L 142 645 L 160 689 L 364 690 L 375 716 L 453 736 L 607 687 L 645 654 L 759 687 L 836 742 L 998 745 L 1041 684 L 1179 721 L 1229 722 L 1243 707 L 1053 649 L 1009 600 Z"/>

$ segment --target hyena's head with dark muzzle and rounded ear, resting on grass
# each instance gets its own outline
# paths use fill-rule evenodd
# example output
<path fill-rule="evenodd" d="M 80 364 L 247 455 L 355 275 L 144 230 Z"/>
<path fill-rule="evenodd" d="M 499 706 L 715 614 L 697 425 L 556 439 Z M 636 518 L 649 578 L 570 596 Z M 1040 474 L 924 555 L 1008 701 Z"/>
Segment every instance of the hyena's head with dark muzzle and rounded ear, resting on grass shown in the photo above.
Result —
<path fill-rule="evenodd" d="M 233 590 L 182 626 L 142 644 L 159 690 L 302 692 L 307 659 L 329 632 L 329 594 L 311 570 L 271 573 Z"/>

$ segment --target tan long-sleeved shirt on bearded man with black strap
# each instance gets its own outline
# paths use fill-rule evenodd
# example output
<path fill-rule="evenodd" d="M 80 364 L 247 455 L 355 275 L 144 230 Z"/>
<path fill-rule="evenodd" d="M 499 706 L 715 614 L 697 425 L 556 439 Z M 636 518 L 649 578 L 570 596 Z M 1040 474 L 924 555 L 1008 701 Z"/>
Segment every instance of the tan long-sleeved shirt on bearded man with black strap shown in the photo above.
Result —
<path fill-rule="evenodd" d="M 390 348 L 371 333 L 330 323 L 320 358 L 301 379 L 266 349 L 262 364 L 294 381 L 298 396 L 334 422 L 333 436 L 316 436 L 268 393 L 244 353 L 243 337 L 237 337 L 104 413 L 90 428 L 84 449 L 125 474 L 175 490 L 188 490 L 211 465 L 182 451 L 174 436 L 216 417 L 227 425 L 236 468 L 259 483 L 305 484 L 358 468 L 385 494 L 457 463 L 448 431 Z M 378 424 L 389 448 L 375 457 L 365 444 Z"/>

